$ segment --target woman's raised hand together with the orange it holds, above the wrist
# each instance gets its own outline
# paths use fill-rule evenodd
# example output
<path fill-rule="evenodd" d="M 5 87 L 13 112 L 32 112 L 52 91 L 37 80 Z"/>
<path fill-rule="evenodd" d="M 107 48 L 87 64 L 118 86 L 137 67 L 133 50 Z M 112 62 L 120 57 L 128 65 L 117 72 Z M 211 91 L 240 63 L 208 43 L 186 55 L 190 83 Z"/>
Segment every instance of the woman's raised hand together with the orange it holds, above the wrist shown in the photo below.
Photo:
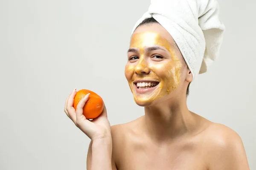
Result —
<path fill-rule="evenodd" d="M 112 140 L 107 109 L 98 94 L 86 89 L 80 91 L 74 89 L 67 97 L 64 111 L 92 141 L 98 139 Z"/>

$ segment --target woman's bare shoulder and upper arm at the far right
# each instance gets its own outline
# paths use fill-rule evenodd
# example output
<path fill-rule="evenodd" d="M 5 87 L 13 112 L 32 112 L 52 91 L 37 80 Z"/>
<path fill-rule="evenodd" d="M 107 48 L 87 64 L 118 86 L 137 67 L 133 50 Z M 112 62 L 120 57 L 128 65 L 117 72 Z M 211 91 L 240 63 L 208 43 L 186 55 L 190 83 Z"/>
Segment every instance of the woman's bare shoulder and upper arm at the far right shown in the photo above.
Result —
<path fill-rule="evenodd" d="M 211 170 L 249 170 L 244 145 L 238 133 L 212 123 L 202 134 Z"/>

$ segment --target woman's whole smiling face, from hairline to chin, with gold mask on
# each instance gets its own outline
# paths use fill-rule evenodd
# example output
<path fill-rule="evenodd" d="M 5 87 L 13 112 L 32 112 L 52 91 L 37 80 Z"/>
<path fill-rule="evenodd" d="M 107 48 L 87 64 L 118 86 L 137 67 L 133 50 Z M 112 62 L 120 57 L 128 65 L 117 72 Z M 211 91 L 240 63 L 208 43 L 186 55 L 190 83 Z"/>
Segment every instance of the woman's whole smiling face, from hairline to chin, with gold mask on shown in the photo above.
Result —
<path fill-rule="evenodd" d="M 178 88 L 181 57 L 174 40 L 160 24 L 140 26 L 134 31 L 125 77 L 138 105 L 151 105 Z"/>

